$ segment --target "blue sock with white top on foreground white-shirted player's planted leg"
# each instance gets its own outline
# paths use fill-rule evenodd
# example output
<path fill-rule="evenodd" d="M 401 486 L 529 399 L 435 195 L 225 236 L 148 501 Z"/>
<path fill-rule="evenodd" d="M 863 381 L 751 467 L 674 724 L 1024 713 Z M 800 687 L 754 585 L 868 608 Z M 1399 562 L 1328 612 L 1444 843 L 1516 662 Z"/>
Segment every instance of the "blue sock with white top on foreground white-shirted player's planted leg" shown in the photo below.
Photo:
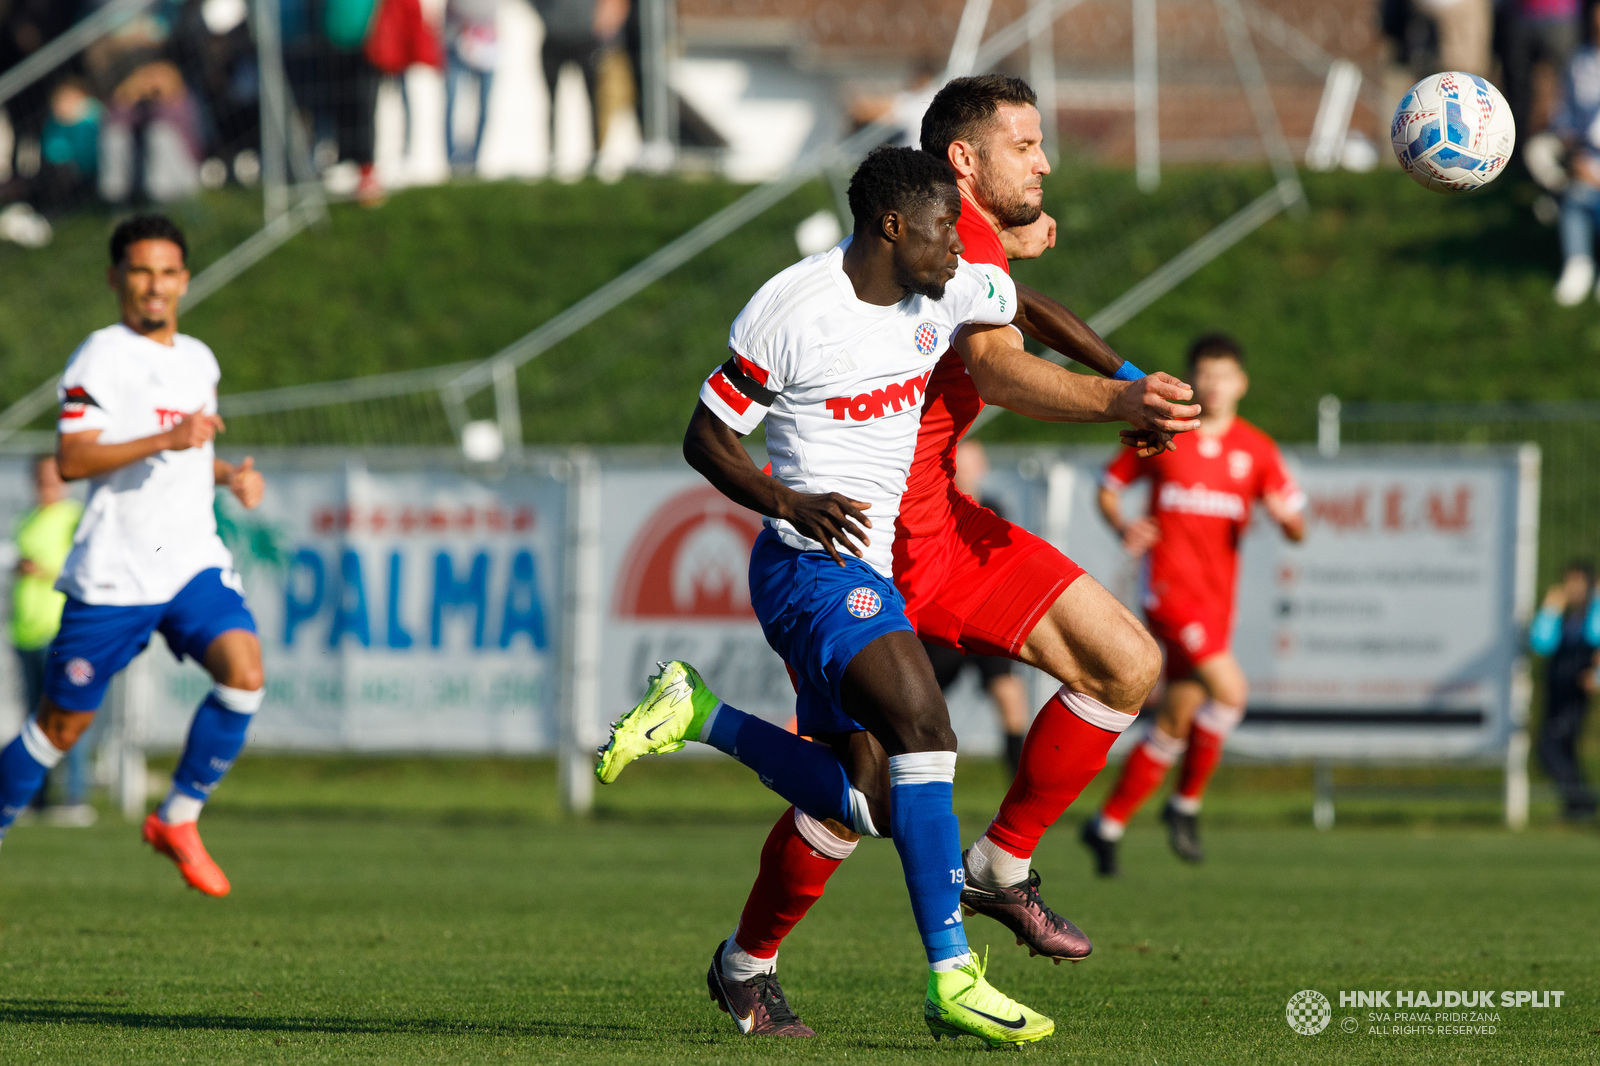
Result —
<path fill-rule="evenodd" d="M 910 911 L 928 965 L 949 970 L 968 957 L 962 927 L 962 829 L 950 807 L 954 751 L 890 759 L 890 826 L 901 853 Z"/>

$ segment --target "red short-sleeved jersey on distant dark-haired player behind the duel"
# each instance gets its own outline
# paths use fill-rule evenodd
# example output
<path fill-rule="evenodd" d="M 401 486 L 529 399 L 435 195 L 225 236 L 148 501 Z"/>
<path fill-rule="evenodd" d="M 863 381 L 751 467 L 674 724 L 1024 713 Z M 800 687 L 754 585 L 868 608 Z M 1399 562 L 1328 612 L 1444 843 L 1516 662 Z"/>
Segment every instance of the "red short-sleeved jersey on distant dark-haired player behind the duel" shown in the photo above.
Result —
<path fill-rule="evenodd" d="M 1150 517 L 1162 539 L 1150 547 L 1144 607 L 1152 616 L 1197 608 L 1232 616 L 1250 506 L 1274 493 L 1298 509 L 1306 495 L 1272 437 L 1242 418 L 1221 437 L 1197 431 L 1174 440 L 1176 451 L 1147 459 L 1122 448 L 1104 475 L 1114 490 L 1150 479 Z"/>

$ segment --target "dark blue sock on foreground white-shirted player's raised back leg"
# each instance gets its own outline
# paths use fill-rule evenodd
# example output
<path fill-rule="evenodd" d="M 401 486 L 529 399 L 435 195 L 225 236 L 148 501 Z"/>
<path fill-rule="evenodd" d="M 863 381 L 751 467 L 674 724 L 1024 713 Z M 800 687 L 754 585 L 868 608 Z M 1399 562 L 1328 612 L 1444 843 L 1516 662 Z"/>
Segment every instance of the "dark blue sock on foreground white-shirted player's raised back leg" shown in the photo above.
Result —
<path fill-rule="evenodd" d="M 712 711 L 699 739 L 755 770 L 762 784 L 818 821 L 851 824 L 850 778 L 822 744 L 728 704 Z"/>

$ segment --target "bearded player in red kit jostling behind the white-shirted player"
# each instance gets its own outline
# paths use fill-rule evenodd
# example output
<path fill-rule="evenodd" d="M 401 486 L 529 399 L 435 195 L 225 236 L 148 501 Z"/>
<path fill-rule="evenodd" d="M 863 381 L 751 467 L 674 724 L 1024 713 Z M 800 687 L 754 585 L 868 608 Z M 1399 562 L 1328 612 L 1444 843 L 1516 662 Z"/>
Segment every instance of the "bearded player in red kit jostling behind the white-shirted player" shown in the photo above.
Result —
<path fill-rule="evenodd" d="M 1010 271 L 1010 256 L 1037 256 L 1054 243 L 1054 222 L 1042 213 L 1040 182 L 1050 163 L 1034 102 L 1024 82 L 981 75 L 946 85 L 923 117 L 923 149 L 944 155 L 958 176 L 957 232 L 968 262 Z M 1019 330 L 1107 376 L 1144 376 L 1066 307 L 1026 285 L 1016 288 Z M 1000 812 L 966 853 L 962 904 L 1005 924 L 1035 954 L 1082 959 L 1088 938 L 1045 906 L 1029 856 L 1134 720 L 1158 675 L 1160 651 L 1077 563 L 955 488 L 957 442 L 986 402 L 1027 416 L 1066 418 L 1070 375 L 1040 359 L 1006 359 L 1008 351 L 1021 354 L 998 344 L 971 346 L 965 360 L 947 351 L 934 367 L 894 528 L 894 584 L 922 639 L 1027 663 L 1062 683 L 1029 730 Z M 1194 408 L 1182 411 L 1166 418 L 1192 418 Z M 1126 431 L 1123 437 L 1152 440 Z M 1157 440 L 1162 445 L 1165 439 Z M 762 850 L 738 932 L 722 951 L 725 980 L 774 972 L 782 938 L 822 895 L 859 834 L 877 836 L 886 824 L 886 804 L 878 797 L 886 795 L 883 752 L 866 733 L 859 738 L 851 746 L 851 778 L 870 816 L 845 826 L 784 812 Z"/>

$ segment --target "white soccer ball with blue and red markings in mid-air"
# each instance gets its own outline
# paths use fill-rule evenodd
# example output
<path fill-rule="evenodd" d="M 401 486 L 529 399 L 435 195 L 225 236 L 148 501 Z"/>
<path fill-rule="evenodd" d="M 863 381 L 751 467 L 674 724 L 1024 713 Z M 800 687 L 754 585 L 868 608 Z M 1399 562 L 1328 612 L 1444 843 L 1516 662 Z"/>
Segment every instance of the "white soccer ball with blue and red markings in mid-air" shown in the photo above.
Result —
<path fill-rule="evenodd" d="M 1411 86 L 1395 109 L 1389 138 L 1416 184 L 1469 192 L 1506 170 L 1517 125 L 1498 88 L 1475 74 L 1446 70 Z"/>

